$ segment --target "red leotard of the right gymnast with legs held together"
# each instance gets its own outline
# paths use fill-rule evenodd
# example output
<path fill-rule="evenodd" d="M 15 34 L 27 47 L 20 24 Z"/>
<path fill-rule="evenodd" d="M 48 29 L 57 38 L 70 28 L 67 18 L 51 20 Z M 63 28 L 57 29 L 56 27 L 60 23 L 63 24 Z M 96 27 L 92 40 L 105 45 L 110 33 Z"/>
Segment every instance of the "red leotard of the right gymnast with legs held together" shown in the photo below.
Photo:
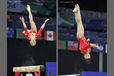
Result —
<path fill-rule="evenodd" d="M 78 38 L 80 42 L 80 50 L 82 54 L 85 54 L 87 52 L 87 49 L 89 49 L 89 52 L 91 52 L 91 47 L 90 47 L 90 43 L 88 43 L 85 39 L 85 36 L 83 36 L 82 38 Z"/>

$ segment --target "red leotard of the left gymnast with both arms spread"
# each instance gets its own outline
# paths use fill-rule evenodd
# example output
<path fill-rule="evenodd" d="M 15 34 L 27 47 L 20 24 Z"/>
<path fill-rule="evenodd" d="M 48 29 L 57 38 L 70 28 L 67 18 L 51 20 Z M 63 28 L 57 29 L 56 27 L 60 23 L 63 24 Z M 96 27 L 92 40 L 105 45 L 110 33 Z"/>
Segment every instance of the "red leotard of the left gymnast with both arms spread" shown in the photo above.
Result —
<path fill-rule="evenodd" d="M 29 34 L 30 34 L 30 33 L 34 33 L 34 34 L 36 34 L 36 39 L 38 39 L 38 38 L 40 37 L 41 33 L 42 33 L 42 30 L 43 30 L 43 29 L 40 28 L 40 30 L 39 30 L 38 32 L 36 32 L 36 31 L 33 30 L 33 29 L 31 29 L 30 31 L 28 31 L 28 29 L 25 28 L 25 36 L 26 36 L 27 39 L 29 39 Z"/>

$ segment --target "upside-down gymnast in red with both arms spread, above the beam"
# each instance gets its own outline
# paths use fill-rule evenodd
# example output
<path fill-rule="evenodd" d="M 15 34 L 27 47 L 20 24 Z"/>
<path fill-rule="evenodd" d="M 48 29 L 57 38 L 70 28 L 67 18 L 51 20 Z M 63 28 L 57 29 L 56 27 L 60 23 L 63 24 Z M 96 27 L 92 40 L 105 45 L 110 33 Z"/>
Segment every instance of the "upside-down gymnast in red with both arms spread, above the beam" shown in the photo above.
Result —
<path fill-rule="evenodd" d="M 45 20 L 45 22 L 43 23 L 43 25 L 41 26 L 41 28 L 37 32 L 37 28 L 36 28 L 35 22 L 33 20 L 33 16 L 32 16 L 32 13 L 31 13 L 31 8 L 30 8 L 29 5 L 27 5 L 27 11 L 29 13 L 29 21 L 30 21 L 31 29 L 30 30 L 27 29 L 27 26 L 26 26 L 25 21 L 24 21 L 24 17 L 20 17 L 20 20 L 22 21 L 23 27 L 25 29 L 25 36 L 28 40 L 30 40 L 30 45 L 35 46 L 36 45 L 36 40 L 42 34 L 42 30 L 44 29 L 44 27 L 45 27 L 45 25 L 46 25 L 46 23 L 49 19 Z"/>

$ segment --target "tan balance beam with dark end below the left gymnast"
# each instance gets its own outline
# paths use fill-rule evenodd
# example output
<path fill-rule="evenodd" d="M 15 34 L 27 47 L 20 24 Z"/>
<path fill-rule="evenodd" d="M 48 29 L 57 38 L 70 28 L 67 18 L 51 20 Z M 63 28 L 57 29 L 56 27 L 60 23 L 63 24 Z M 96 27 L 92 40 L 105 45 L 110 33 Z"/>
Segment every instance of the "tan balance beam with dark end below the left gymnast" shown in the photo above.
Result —
<path fill-rule="evenodd" d="M 13 67 L 13 72 L 42 72 L 42 71 L 44 71 L 43 65 Z"/>

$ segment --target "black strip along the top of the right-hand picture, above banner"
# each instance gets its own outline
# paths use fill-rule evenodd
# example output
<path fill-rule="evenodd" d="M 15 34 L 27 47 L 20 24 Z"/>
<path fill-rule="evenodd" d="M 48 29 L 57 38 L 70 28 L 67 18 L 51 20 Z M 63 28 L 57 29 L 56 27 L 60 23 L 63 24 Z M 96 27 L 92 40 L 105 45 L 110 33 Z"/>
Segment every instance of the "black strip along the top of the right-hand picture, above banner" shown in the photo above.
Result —
<path fill-rule="evenodd" d="M 74 8 L 78 3 L 81 10 L 107 12 L 107 0 L 58 0 L 59 7 Z"/>

